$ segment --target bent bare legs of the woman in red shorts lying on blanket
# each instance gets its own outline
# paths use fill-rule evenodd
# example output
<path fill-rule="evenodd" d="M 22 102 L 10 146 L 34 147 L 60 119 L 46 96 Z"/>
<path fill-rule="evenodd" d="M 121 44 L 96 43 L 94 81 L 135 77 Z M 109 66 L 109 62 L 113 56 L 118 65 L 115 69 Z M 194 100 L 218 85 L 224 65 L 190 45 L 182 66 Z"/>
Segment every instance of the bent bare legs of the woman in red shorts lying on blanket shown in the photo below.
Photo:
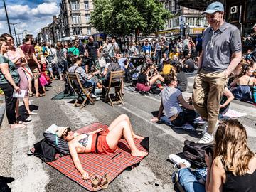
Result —
<path fill-rule="evenodd" d="M 107 144 L 110 146 L 110 149 L 116 149 L 119 140 L 124 136 L 124 139 L 127 140 L 127 143 L 131 148 L 132 156 L 146 156 L 148 154 L 147 152 L 139 151 L 139 149 L 137 149 L 133 140 L 130 124 L 127 120 L 122 120 L 125 116 L 126 115 L 120 115 L 114 122 L 112 122 L 112 124 L 110 124 L 110 132 L 106 137 Z M 115 124 L 114 127 L 112 126 L 113 124 Z"/>

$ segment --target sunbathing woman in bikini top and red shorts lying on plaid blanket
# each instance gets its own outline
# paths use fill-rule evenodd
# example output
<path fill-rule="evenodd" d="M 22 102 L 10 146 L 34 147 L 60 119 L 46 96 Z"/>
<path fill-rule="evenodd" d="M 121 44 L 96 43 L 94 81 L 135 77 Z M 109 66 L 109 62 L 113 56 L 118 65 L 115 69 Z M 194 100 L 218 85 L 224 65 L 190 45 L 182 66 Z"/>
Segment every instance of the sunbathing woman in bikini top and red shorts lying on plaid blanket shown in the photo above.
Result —
<path fill-rule="evenodd" d="M 67 127 L 59 135 L 68 142 L 75 168 L 78 169 L 84 179 L 90 179 L 90 176 L 82 169 L 78 154 L 112 154 L 116 151 L 117 144 L 122 137 L 127 140 L 132 156 L 146 156 L 148 154 L 147 152 L 139 151 L 135 146 L 133 139 L 144 139 L 144 137 L 134 134 L 132 124 L 126 114 L 121 114 L 117 119 L 114 119 L 105 131 L 100 128 L 94 132 L 78 134 Z"/>

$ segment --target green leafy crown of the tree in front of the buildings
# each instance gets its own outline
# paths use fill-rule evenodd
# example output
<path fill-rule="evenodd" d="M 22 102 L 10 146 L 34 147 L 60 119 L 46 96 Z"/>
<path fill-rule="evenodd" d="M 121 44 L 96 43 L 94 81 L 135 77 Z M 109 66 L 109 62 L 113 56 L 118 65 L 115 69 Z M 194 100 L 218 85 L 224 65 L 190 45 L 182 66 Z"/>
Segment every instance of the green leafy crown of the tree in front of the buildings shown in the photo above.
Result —
<path fill-rule="evenodd" d="M 144 35 L 163 29 L 171 13 L 156 0 L 94 0 L 91 24 L 107 34 L 126 36 L 139 30 Z"/>

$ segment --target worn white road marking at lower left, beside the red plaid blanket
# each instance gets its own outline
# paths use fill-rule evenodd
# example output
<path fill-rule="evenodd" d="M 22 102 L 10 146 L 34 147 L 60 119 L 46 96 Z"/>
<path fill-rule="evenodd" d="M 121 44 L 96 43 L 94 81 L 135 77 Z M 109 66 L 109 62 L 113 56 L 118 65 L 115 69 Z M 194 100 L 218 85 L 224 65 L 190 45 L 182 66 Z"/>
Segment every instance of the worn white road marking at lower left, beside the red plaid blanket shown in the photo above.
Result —
<path fill-rule="evenodd" d="M 49 181 L 49 176 L 43 170 L 41 160 L 37 157 L 27 156 L 28 149 L 36 143 L 36 137 L 33 134 L 33 124 L 40 126 L 41 119 L 39 116 L 33 118 L 33 123 L 28 124 L 27 128 L 13 130 L 13 155 L 11 176 L 15 181 L 10 184 L 11 191 L 17 192 L 44 192 L 45 186 Z"/>

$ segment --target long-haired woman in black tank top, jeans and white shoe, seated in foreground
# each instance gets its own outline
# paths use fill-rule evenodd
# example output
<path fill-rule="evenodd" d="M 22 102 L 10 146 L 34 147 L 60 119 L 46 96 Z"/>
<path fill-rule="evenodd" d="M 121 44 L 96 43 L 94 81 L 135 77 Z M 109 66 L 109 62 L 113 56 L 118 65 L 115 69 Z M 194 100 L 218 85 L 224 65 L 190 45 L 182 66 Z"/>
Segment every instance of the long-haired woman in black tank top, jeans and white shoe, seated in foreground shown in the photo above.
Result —
<path fill-rule="evenodd" d="M 247 143 L 245 127 L 237 119 L 220 123 L 215 134 L 213 153 L 205 153 L 206 179 L 189 169 L 191 164 L 176 154 L 169 156 L 178 167 L 178 183 L 186 192 L 255 191 L 256 155 Z M 206 180 L 206 181 L 205 181 Z"/>

